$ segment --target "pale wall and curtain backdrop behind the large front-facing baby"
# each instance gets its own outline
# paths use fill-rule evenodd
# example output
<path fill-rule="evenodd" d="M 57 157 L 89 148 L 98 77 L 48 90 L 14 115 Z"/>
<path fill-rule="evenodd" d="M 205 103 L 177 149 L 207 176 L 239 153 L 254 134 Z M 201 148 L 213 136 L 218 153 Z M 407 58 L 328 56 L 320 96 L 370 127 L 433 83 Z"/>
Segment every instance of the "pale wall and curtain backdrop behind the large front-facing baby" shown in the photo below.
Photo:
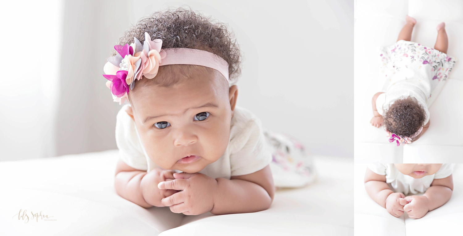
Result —
<path fill-rule="evenodd" d="M 57 105 L 52 112 L 44 112 L 28 108 L 26 96 L 17 97 L 22 103 L 10 110 L 24 108 L 34 130 L 17 129 L 23 121 L 9 110 L 0 110 L 1 117 L 8 118 L 1 122 L 0 141 L 4 142 L 0 145 L 9 154 L 0 160 L 116 149 L 114 127 L 121 106 L 112 101 L 101 76 L 106 58 L 123 32 L 139 19 L 168 6 L 184 5 L 212 15 L 235 32 L 244 58 L 237 84 L 239 106 L 254 112 L 265 128 L 298 138 L 313 154 L 353 156 L 352 1 L 66 0 L 62 28 L 52 31 L 60 32 L 64 42 L 61 64 L 41 64 L 57 71 L 52 78 L 59 84 L 52 91 L 59 95 L 54 100 Z M 9 40 L 4 37 L 3 45 Z M 35 55 L 28 60 L 39 61 Z M 1 106 L 8 103 L 15 104 L 0 99 Z M 40 116 L 41 123 L 30 116 Z M 5 124 L 10 128 L 6 130 Z M 52 135 L 43 135 L 39 127 L 52 130 Z M 12 136 L 34 139 L 6 145 Z M 30 148 L 20 149 L 26 146 Z M 43 147 L 51 151 L 37 152 Z"/>

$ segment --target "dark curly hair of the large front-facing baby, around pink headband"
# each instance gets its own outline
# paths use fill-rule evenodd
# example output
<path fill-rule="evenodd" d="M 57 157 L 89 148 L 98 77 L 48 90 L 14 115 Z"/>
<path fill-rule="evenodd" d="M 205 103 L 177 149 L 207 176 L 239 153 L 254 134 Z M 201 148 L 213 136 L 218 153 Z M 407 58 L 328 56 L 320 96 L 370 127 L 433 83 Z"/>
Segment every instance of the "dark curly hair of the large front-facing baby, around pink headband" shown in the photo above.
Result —
<path fill-rule="evenodd" d="M 154 12 L 149 17 L 139 20 L 136 25 L 132 25 L 129 30 L 125 31 L 124 36 L 120 37 L 118 44 L 131 44 L 134 42 L 134 37 L 137 37 L 140 43 L 143 44 L 144 32 L 148 32 L 151 40 L 156 38 L 163 40 L 163 49 L 190 48 L 212 52 L 228 62 L 229 85 L 232 85 L 236 83 L 238 76 L 241 74 L 241 51 L 239 50 L 239 44 L 236 42 L 236 39 L 232 40 L 234 34 L 223 23 L 214 22 L 210 18 L 202 16 L 200 12 L 194 12 L 184 7 Z M 115 55 L 116 52 L 113 53 L 113 56 Z M 159 71 L 165 70 L 168 67 L 171 68 L 171 66 L 179 65 L 166 65 L 160 67 Z M 185 68 L 195 67 L 194 65 L 181 66 Z M 178 67 L 176 69 L 183 74 L 188 74 L 183 69 Z M 210 68 L 204 69 L 213 70 Z M 140 81 L 136 81 L 135 87 L 143 86 L 148 82 L 158 86 L 169 87 L 178 82 L 178 79 L 168 76 L 167 79 L 163 80 L 149 80 L 143 76 Z"/>

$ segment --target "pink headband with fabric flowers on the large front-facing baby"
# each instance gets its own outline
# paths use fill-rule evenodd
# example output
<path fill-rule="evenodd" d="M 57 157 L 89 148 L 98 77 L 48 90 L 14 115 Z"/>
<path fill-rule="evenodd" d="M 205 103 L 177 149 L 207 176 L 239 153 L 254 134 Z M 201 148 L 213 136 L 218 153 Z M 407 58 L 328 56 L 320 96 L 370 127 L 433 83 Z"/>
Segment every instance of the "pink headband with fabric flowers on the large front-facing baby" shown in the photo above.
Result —
<path fill-rule="evenodd" d="M 160 66 L 172 64 L 199 65 L 213 68 L 222 74 L 228 81 L 228 62 L 220 56 L 204 50 L 188 48 L 161 49 L 163 40 L 156 38 L 151 41 L 150 35 L 145 32 L 142 43 L 134 37 L 134 43 L 114 45 L 119 53 L 107 58 L 103 68 L 106 75 L 106 87 L 111 90 L 115 102 L 119 105 L 125 102 L 128 93 L 135 86 L 135 79 L 142 76 L 152 79 L 157 75 Z"/>

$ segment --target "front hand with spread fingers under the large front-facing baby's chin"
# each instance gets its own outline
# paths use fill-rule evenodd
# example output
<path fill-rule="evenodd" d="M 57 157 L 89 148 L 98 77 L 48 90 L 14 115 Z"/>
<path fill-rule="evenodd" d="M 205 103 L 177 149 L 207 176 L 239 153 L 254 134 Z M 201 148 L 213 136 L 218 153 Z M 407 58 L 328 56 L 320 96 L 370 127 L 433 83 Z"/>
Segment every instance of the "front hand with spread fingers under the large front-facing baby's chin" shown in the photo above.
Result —
<path fill-rule="evenodd" d="M 174 213 L 199 215 L 214 207 L 214 196 L 218 191 L 217 180 L 200 173 L 175 173 L 175 180 L 159 183 L 160 189 L 175 189 L 181 192 L 162 199 Z"/>

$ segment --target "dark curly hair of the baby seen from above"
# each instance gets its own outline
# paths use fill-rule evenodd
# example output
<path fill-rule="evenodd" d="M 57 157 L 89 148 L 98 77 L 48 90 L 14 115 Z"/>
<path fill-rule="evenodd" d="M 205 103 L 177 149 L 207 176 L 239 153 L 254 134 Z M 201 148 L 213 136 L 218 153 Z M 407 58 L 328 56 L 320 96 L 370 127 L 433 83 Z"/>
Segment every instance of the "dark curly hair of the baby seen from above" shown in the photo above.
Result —
<path fill-rule="evenodd" d="M 383 119 L 386 130 L 401 137 L 410 137 L 425 125 L 426 112 L 416 98 L 409 96 L 390 105 Z"/>

